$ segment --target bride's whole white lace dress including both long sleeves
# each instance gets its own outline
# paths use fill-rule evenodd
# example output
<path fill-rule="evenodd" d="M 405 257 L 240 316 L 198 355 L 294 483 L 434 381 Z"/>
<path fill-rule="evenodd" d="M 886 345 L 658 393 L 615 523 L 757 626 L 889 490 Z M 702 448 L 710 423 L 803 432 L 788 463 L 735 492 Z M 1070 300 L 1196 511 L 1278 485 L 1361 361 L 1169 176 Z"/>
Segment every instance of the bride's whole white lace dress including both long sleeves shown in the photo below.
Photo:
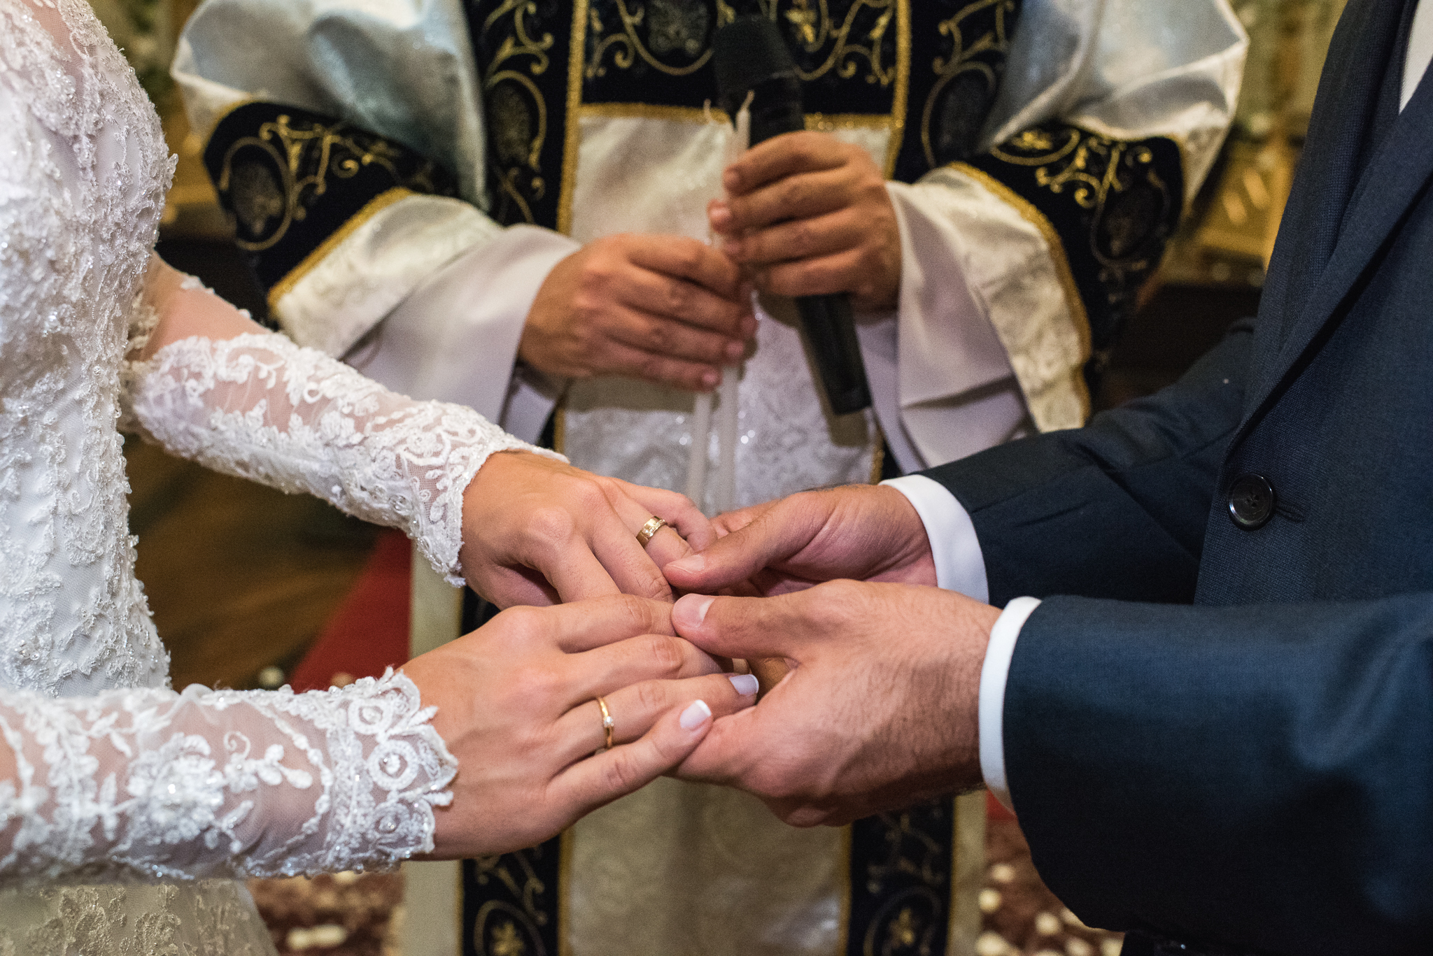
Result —
<path fill-rule="evenodd" d="M 123 417 L 404 527 L 459 575 L 461 493 L 527 447 L 278 335 L 126 363 L 172 161 L 83 0 L 0 0 L 0 956 L 269 953 L 236 881 L 431 847 L 456 761 L 401 674 L 168 688 L 133 575 Z"/>

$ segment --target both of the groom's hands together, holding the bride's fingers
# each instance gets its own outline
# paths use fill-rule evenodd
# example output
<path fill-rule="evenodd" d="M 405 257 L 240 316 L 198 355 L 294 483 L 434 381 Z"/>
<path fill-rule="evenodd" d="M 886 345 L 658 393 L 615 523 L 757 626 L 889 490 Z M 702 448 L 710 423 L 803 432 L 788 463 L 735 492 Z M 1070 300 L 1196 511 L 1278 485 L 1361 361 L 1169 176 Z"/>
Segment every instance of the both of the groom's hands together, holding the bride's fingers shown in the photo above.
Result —
<path fill-rule="evenodd" d="M 930 586 L 906 497 L 853 486 L 718 520 L 718 542 L 665 568 L 695 592 L 672 609 L 676 634 L 790 672 L 719 721 L 678 774 L 748 790 L 795 826 L 979 785 L 980 669 L 1000 612 Z M 722 589 L 759 596 L 704 596 Z"/>

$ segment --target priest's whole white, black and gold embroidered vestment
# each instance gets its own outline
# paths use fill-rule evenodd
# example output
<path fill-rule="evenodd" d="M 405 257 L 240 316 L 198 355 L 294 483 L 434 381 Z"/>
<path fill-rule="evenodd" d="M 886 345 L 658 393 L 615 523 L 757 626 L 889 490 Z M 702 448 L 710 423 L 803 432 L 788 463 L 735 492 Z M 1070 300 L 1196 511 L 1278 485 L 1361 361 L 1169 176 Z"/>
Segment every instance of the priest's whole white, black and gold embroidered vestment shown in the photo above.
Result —
<path fill-rule="evenodd" d="M 857 317 L 861 414 L 824 411 L 790 301 L 759 301 L 735 503 L 1082 424 L 1232 116 L 1245 40 L 1224 0 L 206 0 L 175 76 L 295 340 L 520 437 L 555 420 L 575 464 L 682 489 L 691 394 L 553 381 L 516 351 L 582 244 L 708 238 L 732 136 L 711 42 L 747 13 L 781 27 L 808 128 L 884 168 L 903 268 L 897 307 Z M 966 949 L 980 811 L 798 831 L 662 780 L 560 846 L 467 863 L 466 945 Z"/>

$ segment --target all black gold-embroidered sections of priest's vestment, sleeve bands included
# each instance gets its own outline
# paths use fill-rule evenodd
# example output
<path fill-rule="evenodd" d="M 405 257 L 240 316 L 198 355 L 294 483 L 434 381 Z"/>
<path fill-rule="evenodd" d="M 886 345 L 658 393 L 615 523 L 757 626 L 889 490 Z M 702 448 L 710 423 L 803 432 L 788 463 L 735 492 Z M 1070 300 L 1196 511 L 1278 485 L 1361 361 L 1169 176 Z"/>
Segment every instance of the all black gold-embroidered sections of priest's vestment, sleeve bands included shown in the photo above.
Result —
<path fill-rule="evenodd" d="M 694 120 L 715 100 L 714 32 L 738 14 L 782 29 L 813 129 L 890 132 L 886 172 L 960 163 L 1039 225 L 1099 364 L 1182 206 L 1178 146 L 1063 123 L 976 152 L 1019 0 L 461 0 L 486 110 L 487 212 L 565 231 L 583 115 Z M 454 195 L 441 158 L 337 118 L 246 103 L 205 162 L 274 304 L 358 224 L 411 193 Z M 954 808 L 937 801 L 850 830 L 847 952 L 947 947 Z M 560 952 L 559 840 L 463 864 L 464 952 Z"/>

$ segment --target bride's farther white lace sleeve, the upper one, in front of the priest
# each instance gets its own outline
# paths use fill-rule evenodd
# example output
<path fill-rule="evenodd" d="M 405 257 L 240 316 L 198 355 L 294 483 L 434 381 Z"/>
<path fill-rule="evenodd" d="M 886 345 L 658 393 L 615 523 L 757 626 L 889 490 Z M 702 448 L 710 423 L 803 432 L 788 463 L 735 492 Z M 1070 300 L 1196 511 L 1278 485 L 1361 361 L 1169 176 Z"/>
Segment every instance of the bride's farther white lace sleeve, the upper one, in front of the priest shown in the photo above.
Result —
<path fill-rule="evenodd" d="M 146 334 L 142 317 L 135 338 Z M 463 583 L 463 492 L 494 451 L 552 454 L 464 406 L 414 401 L 279 334 L 185 338 L 126 370 L 125 416 L 169 451 L 408 533 Z M 560 457 L 560 456 L 555 456 Z"/>

